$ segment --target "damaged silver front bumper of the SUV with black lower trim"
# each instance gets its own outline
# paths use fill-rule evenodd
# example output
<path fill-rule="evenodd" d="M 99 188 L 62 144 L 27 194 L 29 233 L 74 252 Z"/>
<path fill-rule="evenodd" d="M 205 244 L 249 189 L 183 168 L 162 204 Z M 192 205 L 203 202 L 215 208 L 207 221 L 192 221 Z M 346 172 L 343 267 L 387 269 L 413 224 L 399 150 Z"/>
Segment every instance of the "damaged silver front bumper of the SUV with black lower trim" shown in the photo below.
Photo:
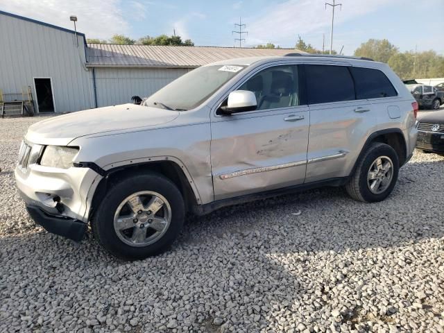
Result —
<path fill-rule="evenodd" d="M 19 158 L 15 182 L 28 213 L 47 231 L 80 241 L 89 219 L 89 191 L 102 176 L 83 164 L 67 169 L 42 166 L 31 158 L 38 145 L 26 146 L 28 157 Z"/>

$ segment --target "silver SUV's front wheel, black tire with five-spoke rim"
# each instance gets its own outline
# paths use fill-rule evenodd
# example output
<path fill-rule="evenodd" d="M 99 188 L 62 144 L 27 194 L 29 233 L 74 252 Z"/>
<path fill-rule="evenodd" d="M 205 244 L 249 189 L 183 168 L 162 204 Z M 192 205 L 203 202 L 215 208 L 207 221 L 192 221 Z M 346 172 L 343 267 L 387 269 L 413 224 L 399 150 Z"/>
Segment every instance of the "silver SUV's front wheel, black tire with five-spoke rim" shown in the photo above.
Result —
<path fill-rule="evenodd" d="M 185 204 L 176 185 L 158 173 L 148 173 L 114 183 L 91 224 L 103 248 L 115 257 L 136 260 L 167 250 L 184 219 Z"/>

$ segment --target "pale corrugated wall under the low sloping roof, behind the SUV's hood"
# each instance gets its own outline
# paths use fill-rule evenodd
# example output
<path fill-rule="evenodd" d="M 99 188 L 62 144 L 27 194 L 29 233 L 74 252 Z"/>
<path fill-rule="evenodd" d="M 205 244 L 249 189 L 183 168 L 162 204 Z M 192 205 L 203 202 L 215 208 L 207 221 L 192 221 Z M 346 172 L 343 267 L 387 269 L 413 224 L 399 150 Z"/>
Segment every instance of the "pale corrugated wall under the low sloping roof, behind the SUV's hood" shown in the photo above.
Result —
<path fill-rule="evenodd" d="M 99 107 L 131 103 L 131 96 L 148 97 L 191 69 L 97 67 Z"/>

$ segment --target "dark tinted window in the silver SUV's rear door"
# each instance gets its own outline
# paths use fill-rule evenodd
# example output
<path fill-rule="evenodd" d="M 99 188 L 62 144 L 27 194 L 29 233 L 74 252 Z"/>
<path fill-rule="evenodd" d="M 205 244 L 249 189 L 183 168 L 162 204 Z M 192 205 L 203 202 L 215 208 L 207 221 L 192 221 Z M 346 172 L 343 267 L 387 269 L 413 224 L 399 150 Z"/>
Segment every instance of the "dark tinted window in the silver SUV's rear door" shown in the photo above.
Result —
<path fill-rule="evenodd" d="M 352 101 L 355 86 L 347 67 L 305 65 L 309 104 Z"/>

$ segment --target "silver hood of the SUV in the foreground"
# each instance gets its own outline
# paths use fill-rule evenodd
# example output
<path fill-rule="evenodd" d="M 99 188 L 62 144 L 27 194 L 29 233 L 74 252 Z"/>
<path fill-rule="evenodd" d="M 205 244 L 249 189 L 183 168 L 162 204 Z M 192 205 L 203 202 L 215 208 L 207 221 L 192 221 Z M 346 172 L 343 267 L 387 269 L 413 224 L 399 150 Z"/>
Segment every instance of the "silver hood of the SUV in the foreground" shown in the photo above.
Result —
<path fill-rule="evenodd" d="M 77 137 L 142 129 L 168 123 L 178 116 L 178 111 L 135 104 L 114 105 L 39 121 L 28 128 L 26 139 L 36 144 L 67 145 Z"/>

